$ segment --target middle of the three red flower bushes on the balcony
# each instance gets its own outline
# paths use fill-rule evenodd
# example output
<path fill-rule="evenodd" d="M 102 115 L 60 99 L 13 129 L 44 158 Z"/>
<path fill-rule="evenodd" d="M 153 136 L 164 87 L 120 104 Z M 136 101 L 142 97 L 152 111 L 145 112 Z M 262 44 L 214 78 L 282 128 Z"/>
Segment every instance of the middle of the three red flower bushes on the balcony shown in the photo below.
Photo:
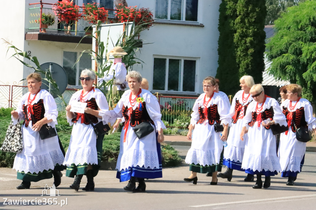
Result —
<path fill-rule="evenodd" d="M 89 21 L 92 24 L 96 24 L 98 20 L 102 23 L 107 20 L 108 11 L 104 7 L 98 7 L 97 3 L 82 5 L 82 14 L 84 20 Z"/>

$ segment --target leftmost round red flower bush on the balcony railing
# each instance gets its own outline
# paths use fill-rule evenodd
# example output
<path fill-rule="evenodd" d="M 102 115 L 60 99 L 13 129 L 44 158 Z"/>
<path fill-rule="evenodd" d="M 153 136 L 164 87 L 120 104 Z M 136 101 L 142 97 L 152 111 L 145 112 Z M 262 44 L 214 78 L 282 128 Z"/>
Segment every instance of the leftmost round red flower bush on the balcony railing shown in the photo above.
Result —
<path fill-rule="evenodd" d="M 72 2 L 58 2 L 53 7 L 53 10 L 55 15 L 58 16 L 58 20 L 66 21 L 67 23 L 71 20 L 78 21 L 81 17 L 79 6 L 73 5 Z"/>

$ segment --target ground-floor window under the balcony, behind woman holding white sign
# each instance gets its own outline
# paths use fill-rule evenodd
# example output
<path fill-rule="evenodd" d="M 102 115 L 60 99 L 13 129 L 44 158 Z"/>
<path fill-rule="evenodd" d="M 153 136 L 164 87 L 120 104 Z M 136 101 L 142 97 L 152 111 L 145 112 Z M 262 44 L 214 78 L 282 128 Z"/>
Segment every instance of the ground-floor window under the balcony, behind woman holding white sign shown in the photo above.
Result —
<path fill-rule="evenodd" d="M 90 69 L 92 66 L 91 55 L 89 53 L 82 53 L 79 62 L 74 66 L 79 56 L 79 52 L 64 51 L 63 68 L 67 73 L 68 85 L 80 86 L 79 77 L 82 70 L 86 68 Z"/>

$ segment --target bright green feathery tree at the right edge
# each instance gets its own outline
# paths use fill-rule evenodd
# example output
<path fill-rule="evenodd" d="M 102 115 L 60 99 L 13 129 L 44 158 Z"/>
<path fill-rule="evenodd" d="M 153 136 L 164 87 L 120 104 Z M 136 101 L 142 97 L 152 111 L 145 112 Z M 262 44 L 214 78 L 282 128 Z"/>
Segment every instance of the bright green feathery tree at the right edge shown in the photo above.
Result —
<path fill-rule="evenodd" d="M 275 21 L 275 36 L 267 44 L 269 72 L 276 79 L 303 87 L 303 97 L 315 102 L 316 81 L 316 1 L 288 8 Z"/>

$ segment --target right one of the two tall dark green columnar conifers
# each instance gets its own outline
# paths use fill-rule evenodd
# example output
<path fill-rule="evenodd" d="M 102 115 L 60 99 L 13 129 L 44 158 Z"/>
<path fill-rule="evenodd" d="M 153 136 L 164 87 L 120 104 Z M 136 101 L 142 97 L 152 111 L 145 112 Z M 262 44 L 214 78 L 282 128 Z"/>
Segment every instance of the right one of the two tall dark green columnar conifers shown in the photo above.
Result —
<path fill-rule="evenodd" d="M 264 19 L 265 0 L 239 0 L 237 2 L 234 43 L 239 77 L 251 75 L 255 83 L 262 82 L 264 71 Z"/>

